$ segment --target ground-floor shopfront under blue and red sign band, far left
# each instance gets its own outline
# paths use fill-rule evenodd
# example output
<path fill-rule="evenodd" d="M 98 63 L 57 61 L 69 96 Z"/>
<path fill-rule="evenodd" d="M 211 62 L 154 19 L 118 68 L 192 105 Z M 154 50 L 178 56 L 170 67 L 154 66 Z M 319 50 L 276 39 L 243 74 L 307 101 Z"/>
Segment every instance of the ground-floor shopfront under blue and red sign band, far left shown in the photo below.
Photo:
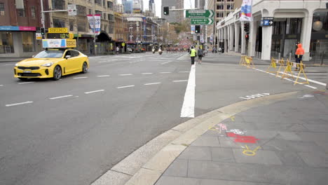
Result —
<path fill-rule="evenodd" d="M 41 51 L 36 27 L 0 26 L 0 57 L 30 57 Z"/>

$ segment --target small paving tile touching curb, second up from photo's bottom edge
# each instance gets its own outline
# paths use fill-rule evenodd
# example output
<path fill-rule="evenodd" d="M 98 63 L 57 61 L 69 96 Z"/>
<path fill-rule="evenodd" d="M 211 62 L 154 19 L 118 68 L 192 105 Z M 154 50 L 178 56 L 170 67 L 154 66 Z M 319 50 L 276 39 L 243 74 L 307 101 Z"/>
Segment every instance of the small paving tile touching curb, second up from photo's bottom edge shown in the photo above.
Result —
<path fill-rule="evenodd" d="M 165 176 L 173 177 L 186 177 L 188 168 L 188 160 L 177 158 L 171 165 L 165 170 Z"/>

